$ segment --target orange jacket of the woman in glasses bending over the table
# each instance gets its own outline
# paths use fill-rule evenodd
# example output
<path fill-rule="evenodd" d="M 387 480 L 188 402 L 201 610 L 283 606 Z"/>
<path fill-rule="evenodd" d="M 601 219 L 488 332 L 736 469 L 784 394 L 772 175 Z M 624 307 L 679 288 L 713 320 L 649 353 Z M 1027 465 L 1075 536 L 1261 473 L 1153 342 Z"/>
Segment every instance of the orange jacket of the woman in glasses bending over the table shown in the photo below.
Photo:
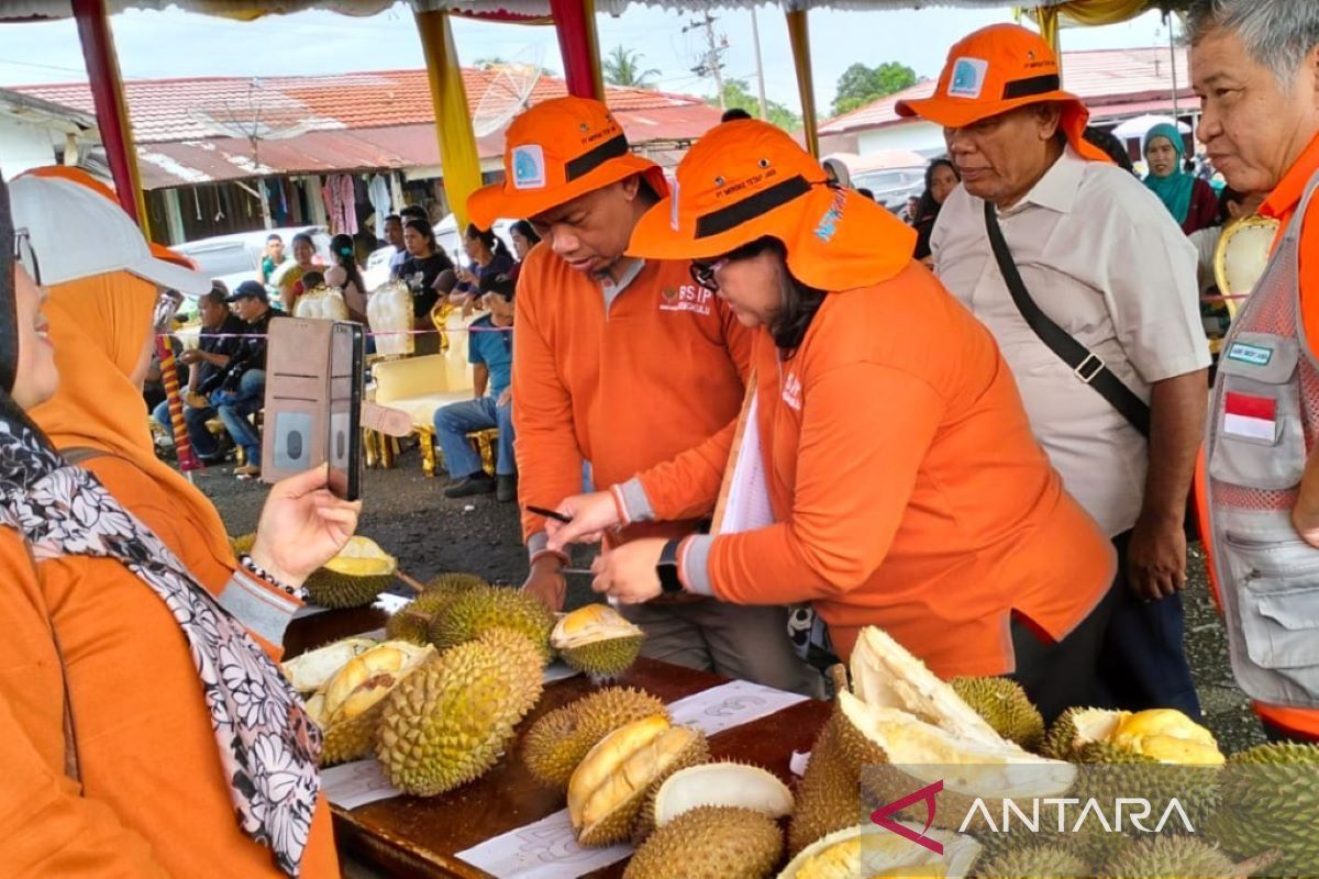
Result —
<path fill-rule="evenodd" d="M 690 540 L 689 585 L 813 601 L 840 655 L 877 625 L 948 677 L 1014 668 L 1012 611 L 1058 639 L 1112 584 L 993 337 L 923 266 L 828 295 L 786 362 L 757 333 L 753 362 L 776 525 Z M 732 435 L 641 476 L 657 518 L 710 503 Z"/>

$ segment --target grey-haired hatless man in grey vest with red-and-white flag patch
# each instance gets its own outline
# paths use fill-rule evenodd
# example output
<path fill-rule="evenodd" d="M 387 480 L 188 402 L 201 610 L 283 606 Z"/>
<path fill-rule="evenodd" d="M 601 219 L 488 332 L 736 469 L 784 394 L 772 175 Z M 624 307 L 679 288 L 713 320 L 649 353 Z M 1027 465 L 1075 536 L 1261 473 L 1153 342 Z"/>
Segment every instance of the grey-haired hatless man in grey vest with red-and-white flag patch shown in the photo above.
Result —
<path fill-rule="evenodd" d="M 1319 8 L 1198 0 L 1188 25 L 1196 136 L 1232 188 L 1269 192 L 1260 213 L 1282 225 L 1219 362 L 1196 473 L 1210 577 L 1265 731 L 1319 741 L 1319 208 L 1301 208 L 1319 187 Z"/>

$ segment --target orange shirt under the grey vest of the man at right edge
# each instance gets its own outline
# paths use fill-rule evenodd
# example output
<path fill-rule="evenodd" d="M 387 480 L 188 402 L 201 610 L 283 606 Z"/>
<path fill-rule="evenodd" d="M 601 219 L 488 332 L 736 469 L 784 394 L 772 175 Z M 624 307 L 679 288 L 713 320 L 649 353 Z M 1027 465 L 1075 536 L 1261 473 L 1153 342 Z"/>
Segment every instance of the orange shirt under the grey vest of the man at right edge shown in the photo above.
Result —
<path fill-rule="evenodd" d="M 1295 217 L 1301 207 L 1301 196 L 1304 195 L 1310 178 L 1319 171 L 1319 137 L 1311 141 L 1310 146 L 1301 154 L 1291 170 L 1286 173 L 1278 186 L 1269 194 L 1269 198 L 1260 208 L 1264 216 L 1272 216 L 1286 228 Z M 1279 231 L 1281 239 L 1281 231 Z M 1314 347 L 1314 340 L 1319 339 L 1319 200 L 1310 203 L 1310 212 L 1301 227 L 1301 319 L 1304 322 L 1306 339 L 1311 340 L 1311 354 L 1319 356 L 1319 349 Z M 1208 522 L 1206 494 L 1204 451 L 1195 463 L 1195 501 L 1200 514 L 1200 522 Z M 1210 576 L 1210 589 L 1215 593 L 1217 602 L 1219 584 L 1213 572 L 1212 542 L 1204 542 L 1204 567 Z M 1219 610 L 1223 606 L 1219 604 Z M 1274 726 L 1290 733 L 1295 738 L 1319 741 L 1319 710 L 1308 708 L 1287 708 L 1283 705 L 1266 705 L 1265 702 L 1252 702 L 1256 714 Z"/>

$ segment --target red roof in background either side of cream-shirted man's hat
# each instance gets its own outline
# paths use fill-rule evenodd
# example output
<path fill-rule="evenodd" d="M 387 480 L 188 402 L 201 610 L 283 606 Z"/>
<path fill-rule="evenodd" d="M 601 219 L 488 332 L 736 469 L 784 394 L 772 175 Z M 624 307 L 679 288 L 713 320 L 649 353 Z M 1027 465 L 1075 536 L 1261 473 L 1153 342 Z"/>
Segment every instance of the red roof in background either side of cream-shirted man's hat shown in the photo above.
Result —
<path fill-rule="evenodd" d="M 1063 53 L 1063 88 L 1092 108 L 1111 104 L 1157 101 L 1173 96 L 1171 55 L 1167 47 L 1097 49 Z M 1191 105 L 1186 49 L 1177 50 L 1177 94 Z M 820 134 L 843 134 L 869 128 L 894 125 L 902 120 L 894 112 L 901 99 L 929 98 L 934 80 L 917 83 L 877 101 L 843 113 L 820 125 Z"/>

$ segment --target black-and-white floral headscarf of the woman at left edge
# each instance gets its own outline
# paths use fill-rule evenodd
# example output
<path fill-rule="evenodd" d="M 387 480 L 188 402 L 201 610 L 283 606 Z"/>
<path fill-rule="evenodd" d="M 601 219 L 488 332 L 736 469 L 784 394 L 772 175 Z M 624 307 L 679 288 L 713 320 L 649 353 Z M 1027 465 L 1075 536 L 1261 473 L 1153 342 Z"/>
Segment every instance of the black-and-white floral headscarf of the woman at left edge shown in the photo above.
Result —
<path fill-rule="evenodd" d="M 321 733 L 247 630 L 95 476 L 61 459 L 13 402 L 17 300 L 3 182 L 0 242 L 0 526 L 18 531 L 37 557 L 116 559 L 160 596 L 187 639 L 239 826 L 297 876 L 319 792 Z"/>

